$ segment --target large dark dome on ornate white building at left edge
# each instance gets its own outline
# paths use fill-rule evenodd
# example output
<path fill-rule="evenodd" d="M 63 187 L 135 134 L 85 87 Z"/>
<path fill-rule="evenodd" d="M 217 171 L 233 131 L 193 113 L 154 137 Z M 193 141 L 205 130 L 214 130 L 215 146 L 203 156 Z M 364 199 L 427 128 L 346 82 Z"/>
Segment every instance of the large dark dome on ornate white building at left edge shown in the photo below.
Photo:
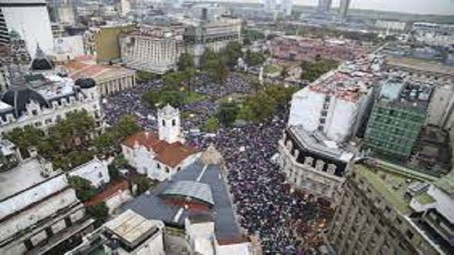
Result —
<path fill-rule="evenodd" d="M 1 100 L 3 103 L 7 103 L 11 105 L 15 109 L 15 116 L 21 116 L 22 112 L 26 110 L 26 105 L 31 101 L 35 101 L 36 103 L 40 104 L 41 107 L 49 107 L 46 99 L 28 87 L 22 89 L 10 89 L 1 96 Z"/>

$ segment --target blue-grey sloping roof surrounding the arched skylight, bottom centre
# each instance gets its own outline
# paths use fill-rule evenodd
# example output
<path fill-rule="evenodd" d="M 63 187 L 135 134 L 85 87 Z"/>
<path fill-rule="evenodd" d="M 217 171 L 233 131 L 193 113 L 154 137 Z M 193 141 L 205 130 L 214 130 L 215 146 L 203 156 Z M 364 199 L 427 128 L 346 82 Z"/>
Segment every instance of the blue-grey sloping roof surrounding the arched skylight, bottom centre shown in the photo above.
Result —
<path fill-rule="evenodd" d="M 166 191 L 173 183 L 178 181 L 195 181 L 202 173 L 204 165 L 196 161 L 190 166 L 180 170 L 173 175 L 171 181 L 159 183 L 149 194 L 144 193 L 135 198 L 128 204 L 122 206 L 122 211 L 132 209 L 141 216 L 150 220 L 162 220 L 166 225 L 184 227 L 184 219 L 193 217 L 195 209 L 185 209 L 181 217 L 174 221 L 178 211 L 182 208 L 161 197 L 159 194 Z M 205 213 L 210 213 L 214 217 L 214 228 L 217 240 L 230 240 L 240 238 L 242 233 L 238 227 L 234 216 L 234 209 L 229 198 L 229 191 L 225 185 L 224 178 L 220 178 L 222 169 L 219 165 L 209 165 L 204 171 L 200 182 L 208 184 L 213 195 L 214 206 L 207 209 Z"/>

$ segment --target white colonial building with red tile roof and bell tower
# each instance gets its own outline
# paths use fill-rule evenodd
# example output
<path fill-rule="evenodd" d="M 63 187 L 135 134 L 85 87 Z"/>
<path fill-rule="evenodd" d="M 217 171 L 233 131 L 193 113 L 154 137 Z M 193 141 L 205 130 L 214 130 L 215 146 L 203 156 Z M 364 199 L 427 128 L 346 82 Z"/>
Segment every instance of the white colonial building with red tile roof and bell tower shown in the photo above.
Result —
<path fill-rule="evenodd" d="M 123 156 L 137 172 L 162 181 L 192 164 L 200 154 L 184 145 L 180 111 L 166 105 L 158 110 L 159 132 L 138 132 L 121 144 Z"/>

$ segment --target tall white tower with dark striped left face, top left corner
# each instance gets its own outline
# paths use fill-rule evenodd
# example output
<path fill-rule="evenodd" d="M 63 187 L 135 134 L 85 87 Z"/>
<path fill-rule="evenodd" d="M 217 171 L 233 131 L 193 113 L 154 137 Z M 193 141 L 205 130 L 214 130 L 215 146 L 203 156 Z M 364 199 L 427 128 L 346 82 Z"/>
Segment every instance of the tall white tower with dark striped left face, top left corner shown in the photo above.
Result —
<path fill-rule="evenodd" d="M 53 48 L 49 12 L 44 0 L 0 0 L 0 45 L 10 44 L 10 32 L 15 30 L 24 39 L 27 51 L 35 55 L 40 44 L 44 53 Z"/>

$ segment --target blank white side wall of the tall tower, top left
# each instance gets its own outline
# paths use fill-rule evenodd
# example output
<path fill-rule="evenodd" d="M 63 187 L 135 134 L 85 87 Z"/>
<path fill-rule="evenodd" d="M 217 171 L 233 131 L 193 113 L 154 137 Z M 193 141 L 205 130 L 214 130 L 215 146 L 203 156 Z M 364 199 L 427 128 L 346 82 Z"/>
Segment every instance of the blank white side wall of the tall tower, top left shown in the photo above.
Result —
<path fill-rule="evenodd" d="M 8 30 L 14 29 L 21 35 L 32 58 L 37 43 L 44 53 L 52 53 L 53 36 L 46 6 L 4 7 L 2 10 Z"/>

